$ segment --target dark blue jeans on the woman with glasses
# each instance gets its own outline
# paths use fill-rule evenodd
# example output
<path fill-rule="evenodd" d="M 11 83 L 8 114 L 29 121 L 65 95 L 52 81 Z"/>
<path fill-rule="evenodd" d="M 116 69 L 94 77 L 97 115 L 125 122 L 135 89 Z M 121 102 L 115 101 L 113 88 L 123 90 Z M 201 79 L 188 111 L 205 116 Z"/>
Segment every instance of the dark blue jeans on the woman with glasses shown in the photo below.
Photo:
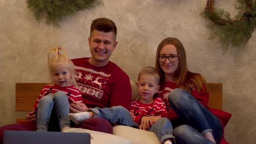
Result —
<path fill-rule="evenodd" d="M 189 92 L 180 88 L 172 90 L 169 103 L 182 123 L 174 128 L 177 144 L 214 144 L 203 137 L 209 131 L 212 132 L 216 143 L 220 143 L 223 136 L 220 120 Z"/>

